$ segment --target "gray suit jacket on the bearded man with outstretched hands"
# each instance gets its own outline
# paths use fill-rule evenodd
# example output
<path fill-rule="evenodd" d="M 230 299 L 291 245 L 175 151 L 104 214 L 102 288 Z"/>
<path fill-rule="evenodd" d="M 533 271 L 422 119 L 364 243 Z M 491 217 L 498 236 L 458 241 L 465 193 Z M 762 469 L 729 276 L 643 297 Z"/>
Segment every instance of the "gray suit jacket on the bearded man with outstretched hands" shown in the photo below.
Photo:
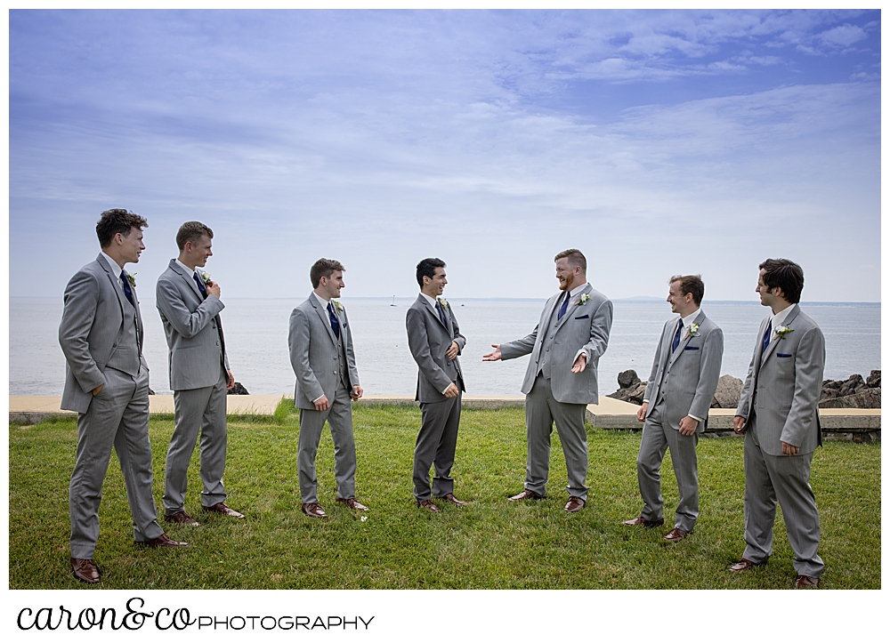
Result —
<path fill-rule="evenodd" d="M 580 303 L 584 294 L 589 301 Z M 531 353 L 529 368 L 522 381 L 522 392 L 528 395 L 538 376 L 541 360 L 541 347 L 544 343 L 543 333 L 546 331 L 550 318 L 554 314 L 556 302 L 562 297 L 562 291 L 547 300 L 541 313 L 538 326 L 521 340 L 501 344 L 501 358 L 513 359 Z M 600 356 L 609 346 L 611 331 L 612 303 L 590 284 L 571 298 L 569 308 L 559 321 L 554 320 L 553 373 L 550 386 L 557 402 L 566 404 L 596 404 L 599 393 L 596 382 L 596 369 Z M 544 330 L 541 330 L 544 329 Z M 540 331 L 540 333 L 538 332 Z M 575 362 L 578 350 L 587 353 L 587 366 L 582 373 L 572 373 L 571 365 Z"/>

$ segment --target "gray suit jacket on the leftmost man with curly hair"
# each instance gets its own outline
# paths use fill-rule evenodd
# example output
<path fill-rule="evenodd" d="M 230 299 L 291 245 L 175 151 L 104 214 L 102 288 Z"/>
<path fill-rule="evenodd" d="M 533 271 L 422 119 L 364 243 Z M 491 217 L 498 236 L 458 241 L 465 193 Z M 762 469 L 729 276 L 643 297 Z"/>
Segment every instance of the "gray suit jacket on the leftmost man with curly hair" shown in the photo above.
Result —
<path fill-rule="evenodd" d="M 101 253 L 96 261 L 77 271 L 65 287 L 65 309 L 59 325 L 59 344 L 68 362 L 61 408 L 86 413 L 93 401 L 93 389 L 105 384 L 105 366 L 117 350 L 124 326 L 124 289 L 119 275 L 112 275 Z M 142 329 L 139 298 L 133 288 L 136 325 Z M 148 370 L 142 358 L 142 332 L 139 338 L 140 366 Z"/>

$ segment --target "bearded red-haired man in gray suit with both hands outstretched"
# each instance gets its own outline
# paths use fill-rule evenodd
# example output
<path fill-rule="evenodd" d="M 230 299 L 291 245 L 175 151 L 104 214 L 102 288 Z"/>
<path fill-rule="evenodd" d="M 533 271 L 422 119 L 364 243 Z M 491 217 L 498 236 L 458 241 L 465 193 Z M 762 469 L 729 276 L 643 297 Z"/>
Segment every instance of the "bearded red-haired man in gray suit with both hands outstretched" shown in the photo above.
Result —
<path fill-rule="evenodd" d="M 587 259 L 574 248 L 554 257 L 560 293 L 547 300 L 538 326 L 521 340 L 492 344 L 482 361 L 513 359 L 531 353 L 522 392 L 529 453 L 525 489 L 510 500 L 546 496 L 550 469 L 550 434 L 554 422 L 562 441 L 568 473 L 569 502 L 581 510 L 587 502 L 587 433 L 584 412 L 599 401 L 596 367 L 609 344 L 612 304 L 587 283 Z"/>

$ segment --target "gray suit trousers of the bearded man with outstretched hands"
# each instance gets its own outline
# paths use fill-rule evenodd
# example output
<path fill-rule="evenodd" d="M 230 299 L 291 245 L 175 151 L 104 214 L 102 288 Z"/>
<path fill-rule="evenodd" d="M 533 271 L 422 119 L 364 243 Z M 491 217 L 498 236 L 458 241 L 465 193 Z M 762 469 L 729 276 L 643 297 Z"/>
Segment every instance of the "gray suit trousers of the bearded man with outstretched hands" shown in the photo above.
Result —
<path fill-rule="evenodd" d="M 565 454 L 565 468 L 569 495 L 587 501 L 587 432 L 584 430 L 585 404 L 557 402 L 550 388 L 550 380 L 538 374 L 525 397 L 526 439 L 529 455 L 525 465 L 525 488 L 546 496 L 550 471 L 550 434 L 554 422 Z"/>

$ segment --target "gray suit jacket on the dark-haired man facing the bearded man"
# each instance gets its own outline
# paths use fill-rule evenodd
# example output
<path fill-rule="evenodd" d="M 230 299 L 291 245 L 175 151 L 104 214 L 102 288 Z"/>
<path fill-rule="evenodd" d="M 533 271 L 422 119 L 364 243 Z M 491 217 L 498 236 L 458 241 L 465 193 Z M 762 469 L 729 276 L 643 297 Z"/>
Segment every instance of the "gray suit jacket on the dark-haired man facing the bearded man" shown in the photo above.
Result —
<path fill-rule="evenodd" d="M 417 301 L 411 304 L 405 317 L 408 328 L 408 346 L 411 356 L 417 362 L 417 393 L 418 402 L 443 402 L 446 398 L 442 391 L 451 382 L 455 382 L 459 390 L 464 388 L 464 374 L 460 370 L 457 358 L 449 359 L 445 351 L 451 348 L 451 342 L 457 342 L 457 354 L 460 355 L 466 345 L 466 338 L 460 334 L 457 319 L 449 306 L 445 311 L 443 325 L 439 314 L 433 310 L 423 294 L 417 295 Z"/>

